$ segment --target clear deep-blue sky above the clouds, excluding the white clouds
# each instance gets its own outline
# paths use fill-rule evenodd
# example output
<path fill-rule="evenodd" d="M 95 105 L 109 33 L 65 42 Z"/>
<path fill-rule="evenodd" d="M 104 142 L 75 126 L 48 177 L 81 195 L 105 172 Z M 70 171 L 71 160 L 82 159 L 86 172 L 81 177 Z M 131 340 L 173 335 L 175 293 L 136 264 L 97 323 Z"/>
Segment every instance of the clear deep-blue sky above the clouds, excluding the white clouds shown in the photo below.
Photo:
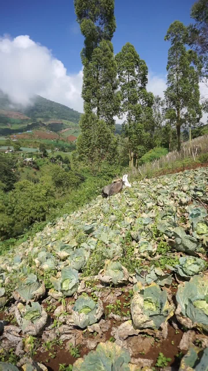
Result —
<path fill-rule="evenodd" d="M 193 0 L 115 0 L 117 29 L 113 37 L 117 53 L 131 42 L 153 72 L 166 72 L 168 43 L 164 36 L 170 23 L 178 19 L 188 24 Z M 79 32 L 73 0 L 11 0 L 1 4 L 0 35 L 29 35 L 52 50 L 69 73 L 81 69 Z"/>

